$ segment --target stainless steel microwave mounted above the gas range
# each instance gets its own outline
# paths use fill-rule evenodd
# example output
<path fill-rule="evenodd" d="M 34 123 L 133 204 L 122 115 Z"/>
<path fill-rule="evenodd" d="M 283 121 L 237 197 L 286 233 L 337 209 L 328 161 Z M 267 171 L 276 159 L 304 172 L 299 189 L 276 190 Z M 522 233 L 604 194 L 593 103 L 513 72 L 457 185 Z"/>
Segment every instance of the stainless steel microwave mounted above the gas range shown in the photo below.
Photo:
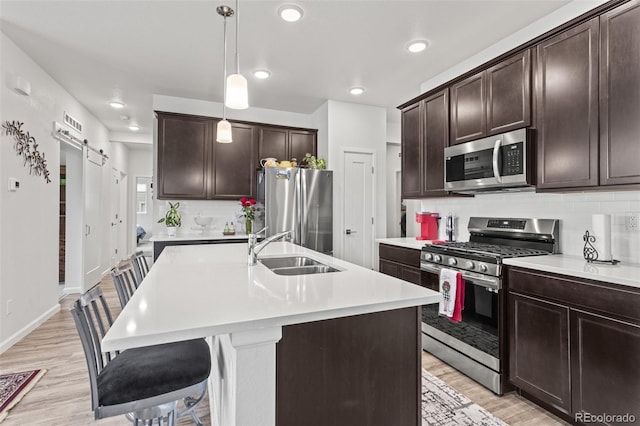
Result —
<path fill-rule="evenodd" d="M 528 188 L 533 131 L 518 129 L 444 149 L 444 187 L 453 192 Z"/>

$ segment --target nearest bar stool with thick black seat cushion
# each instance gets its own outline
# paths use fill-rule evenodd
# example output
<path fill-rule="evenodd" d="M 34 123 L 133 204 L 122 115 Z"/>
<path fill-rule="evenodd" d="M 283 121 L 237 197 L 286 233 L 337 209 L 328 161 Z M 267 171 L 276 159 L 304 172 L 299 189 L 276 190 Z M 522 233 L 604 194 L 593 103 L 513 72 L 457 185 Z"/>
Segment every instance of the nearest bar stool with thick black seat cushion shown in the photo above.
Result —
<path fill-rule="evenodd" d="M 204 339 L 102 352 L 101 340 L 113 324 L 100 287 L 71 308 L 84 350 L 96 419 L 129 414 L 134 424 L 174 425 L 177 417 L 195 414 L 211 371 L 211 354 Z M 197 395 L 194 397 L 194 395 Z M 177 412 L 178 401 L 186 408 Z"/>

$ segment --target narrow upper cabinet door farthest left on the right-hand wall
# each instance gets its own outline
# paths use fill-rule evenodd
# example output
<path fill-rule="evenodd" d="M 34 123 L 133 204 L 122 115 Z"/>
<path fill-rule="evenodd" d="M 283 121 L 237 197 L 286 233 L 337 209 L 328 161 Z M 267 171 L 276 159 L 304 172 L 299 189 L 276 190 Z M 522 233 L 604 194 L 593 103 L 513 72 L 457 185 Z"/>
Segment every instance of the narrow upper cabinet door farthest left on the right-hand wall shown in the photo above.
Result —
<path fill-rule="evenodd" d="M 402 198 L 422 196 L 423 115 L 423 102 L 402 110 Z"/>

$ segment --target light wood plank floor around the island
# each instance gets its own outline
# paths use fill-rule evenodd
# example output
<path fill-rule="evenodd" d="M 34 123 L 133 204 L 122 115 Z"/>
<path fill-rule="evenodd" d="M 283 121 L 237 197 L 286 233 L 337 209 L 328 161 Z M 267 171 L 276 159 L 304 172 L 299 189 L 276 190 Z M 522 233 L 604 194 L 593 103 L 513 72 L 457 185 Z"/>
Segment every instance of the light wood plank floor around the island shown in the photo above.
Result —
<path fill-rule="evenodd" d="M 111 278 L 106 277 L 100 285 L 113 314 L 117 315 L 120 305 Z M 99 421 L 93 419 L 84 353 L 69 313 L 76 298 L 77 295 L 70 295 L 62 299 L 59 313 L 0 355 L 0 374 L 47 369 L 36 387 L 9 412 L 3 426 L 130 424 L 124 416 Z M 422 353 L 422 366 L 510 425 L 567 424 L 515 393 L 503 397 L 494 395 L 426 352 Z M 205 424 L 211 424 L 206 398 L 198 408 L 198 415 Z M 182 418 L 179 424 L 188 425 L 193 422 L 190 418 Z"/>

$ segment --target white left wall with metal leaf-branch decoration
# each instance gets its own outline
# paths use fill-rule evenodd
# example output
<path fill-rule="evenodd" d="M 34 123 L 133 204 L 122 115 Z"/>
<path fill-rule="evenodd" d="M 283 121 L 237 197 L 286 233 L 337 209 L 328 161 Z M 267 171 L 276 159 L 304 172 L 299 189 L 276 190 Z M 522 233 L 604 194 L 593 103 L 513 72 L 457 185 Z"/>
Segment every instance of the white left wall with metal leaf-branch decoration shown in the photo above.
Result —
<path fill-rule="evenodd" d="M 44 322 L 58 309 L 59 142 L 52 136 L 53 121 L 66 111 L 83 123 L 82 139 L 103 148 L 112 158 L 105 166 L 126 167 L 126 150 L 108 144 L 107 129 L 54 81 L 4 33 L 0 38 L 0 121 L 24 122 L 44 153 L 52 182 L 31 176 L 15 155 L 9 136 L 0 144 L 0 352 Z M 31 96 L 17 94 L 12 81 L 21 76 L 31 83 Z M 119 144 L 118 144 L 119 145 Z M 9 177 L 19 179 L 17 192 L 7 191 Z M 107 186 L 108 188 L 108 186 Z M 109 194 L 108 190 L 106 194 Z M 108 209 L 107 209 L 108 211 Z M 102 235 L 108 236 L 105 221 Z M 108 238 L 102 238 L 108 259 Z M 11 305 L 11 313 L 7 305 Z"/>

